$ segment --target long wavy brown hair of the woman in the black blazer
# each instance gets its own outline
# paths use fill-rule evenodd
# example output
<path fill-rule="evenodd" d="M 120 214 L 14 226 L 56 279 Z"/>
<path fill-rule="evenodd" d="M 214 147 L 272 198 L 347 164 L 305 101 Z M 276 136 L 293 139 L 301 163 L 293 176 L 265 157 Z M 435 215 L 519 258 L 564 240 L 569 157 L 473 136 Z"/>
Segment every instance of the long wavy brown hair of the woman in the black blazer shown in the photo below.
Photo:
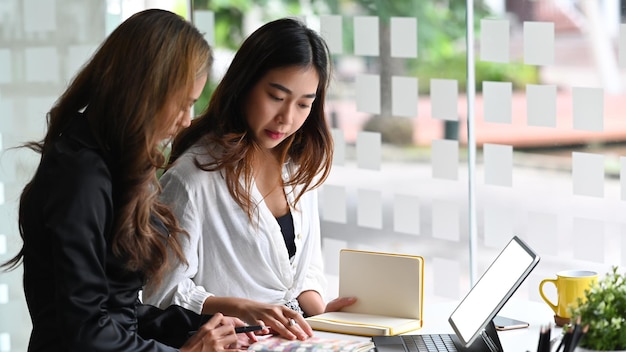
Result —
<path fill-rule="evenodd" d="M 186 104 L 194 82 L 208 74 L 212 60 L 203 35 L 184 18 L 158 9 L 136 13 L 108 36 L 55 102 L 45 138 L 26 144 L 45 154 L 84 111 L 113 178 L 114 253 L 127 259 L 129 270 L 142 271 L 156 282 L 168 247 L 185 262 L 178 243 L 184 231 L 158 200 L 156 171 L 166 163 L 162 138 L 177 118 L 170 116 L 168 106 Z M 22 198 L 28 191 L 29 185 Z M 151 216 L 163 221 L 167 240 Z M 23 253 L 4 266 L 17 266 Z"/>

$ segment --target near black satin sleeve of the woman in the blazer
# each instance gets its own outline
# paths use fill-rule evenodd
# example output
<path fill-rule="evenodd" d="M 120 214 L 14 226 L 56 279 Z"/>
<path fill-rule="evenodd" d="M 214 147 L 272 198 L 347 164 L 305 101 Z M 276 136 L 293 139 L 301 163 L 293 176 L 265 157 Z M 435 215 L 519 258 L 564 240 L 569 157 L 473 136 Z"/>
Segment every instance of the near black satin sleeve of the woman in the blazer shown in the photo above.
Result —
<path fill-rule="evenodd" d="M 114 209 L 106 165 L 93 153 L 79 152 L 59 157 L 51 169 L 55 187 L 42 204 L 56 280 L 49 299 L 60 314 L 59 331 L 68 350 L 175 351 L 142 338 L 111 316 L 105 234 Z M 128 314 L 134 314 L 133 301 L 129 303 Z"/>

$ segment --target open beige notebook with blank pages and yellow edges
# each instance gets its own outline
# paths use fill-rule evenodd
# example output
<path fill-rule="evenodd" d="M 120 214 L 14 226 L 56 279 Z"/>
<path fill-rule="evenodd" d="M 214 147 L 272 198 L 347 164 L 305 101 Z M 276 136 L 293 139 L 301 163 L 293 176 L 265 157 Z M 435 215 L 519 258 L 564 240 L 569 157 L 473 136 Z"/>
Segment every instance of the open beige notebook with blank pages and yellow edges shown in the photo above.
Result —
<path fill-rule="evenodd" d="M 422 327 L 424 258 L 342 249 L 339 296 L 357 297 L 341 312 L 307 318 L 313 329 L 361 336 L 398 335 Z"/>

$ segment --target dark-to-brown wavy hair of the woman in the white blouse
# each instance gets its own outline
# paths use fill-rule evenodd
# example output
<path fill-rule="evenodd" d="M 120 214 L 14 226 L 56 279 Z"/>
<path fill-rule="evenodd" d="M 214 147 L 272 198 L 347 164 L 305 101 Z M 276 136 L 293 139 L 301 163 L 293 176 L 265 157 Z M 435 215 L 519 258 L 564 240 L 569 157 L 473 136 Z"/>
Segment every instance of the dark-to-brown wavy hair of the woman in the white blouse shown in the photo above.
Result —
<path fill-rule="evenodd" d="M 172 145 L 170 164 L 201 139 L 214 159 L 196 165 L 206 171 L 224 173 L 230 194 L 252 219 L 255 204 L 250 197 L 252 157 L 259 146 L 248 131 L 245 104 L 254 85 L 270 70 L 284 67 L 313 67 L 319 84 L 311 112 L 302 127 L 277 146 L 279 162 L 294 162 L 298 168 L 285 183 L 301 185 L 302 194 L 324 182 L 332 164 L 333 143 L 326 122 L 324 102 L 330 82 L 328 47 L 313 30 L 296 19 L 269 22 L 252 33 L 235 54 L 207 109 L 178 135 Z M 243 184 L 240 180 L 244 180 Z"/>

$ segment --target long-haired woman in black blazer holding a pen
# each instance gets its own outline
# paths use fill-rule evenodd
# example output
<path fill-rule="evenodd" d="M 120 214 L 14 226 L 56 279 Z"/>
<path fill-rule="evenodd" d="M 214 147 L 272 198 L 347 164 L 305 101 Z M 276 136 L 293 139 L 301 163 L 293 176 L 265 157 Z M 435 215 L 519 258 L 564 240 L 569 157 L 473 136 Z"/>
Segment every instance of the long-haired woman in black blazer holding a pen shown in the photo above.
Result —
<path fill-rule="evenodd" d="M 190 123 L 212 61 L 189 22 L 135 14 L 98 48 L 48 114 L 39 167 L 23 190 L 29 351 L 222 351 L 254 339 L 222 314 L 142 305 L 184 232 L 158 201 L 163 141 Z M 196 331 L 192 335 L 190 331 Z M 191 337 L 190 337 L 191 336 Z"/>

